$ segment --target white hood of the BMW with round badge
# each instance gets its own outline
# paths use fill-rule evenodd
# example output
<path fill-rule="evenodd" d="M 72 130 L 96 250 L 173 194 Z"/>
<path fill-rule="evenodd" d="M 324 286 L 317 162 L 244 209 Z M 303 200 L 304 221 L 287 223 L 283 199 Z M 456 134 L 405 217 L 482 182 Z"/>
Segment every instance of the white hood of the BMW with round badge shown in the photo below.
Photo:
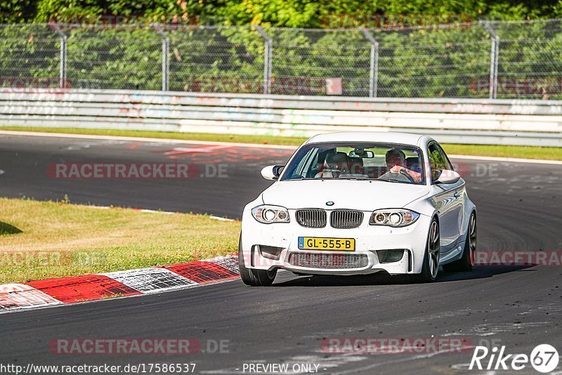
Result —
<path fill-rule="evenodd" d="M 429 192 L 425 185 L 369 180 L 289 180 L 278 181 L 263 192 L 265 204 L 287 209 L 324 208 L 376 209 L 402 208 Z M 334 202 L 327 206 L 326 202 Z"/>

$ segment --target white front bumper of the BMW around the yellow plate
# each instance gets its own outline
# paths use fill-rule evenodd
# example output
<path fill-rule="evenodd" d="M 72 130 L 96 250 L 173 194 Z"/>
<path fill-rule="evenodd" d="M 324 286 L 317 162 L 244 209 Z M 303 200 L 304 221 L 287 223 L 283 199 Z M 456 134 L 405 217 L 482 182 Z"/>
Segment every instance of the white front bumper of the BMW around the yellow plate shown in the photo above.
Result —
<path fill-rule="evenodd" d="M 403 228 L 369 225 L 371 212 L 365 211 L 360 227 L 353 229 L 304 228 L 289 210 L 290 223 L 262 224 L 244 209 L 242 216 L 242 252 L 247 268 L 280 268 L 307 275 L 362 275 L 386 271 L 391 275 L 419 273 L 424 259 L 431 218 L 420 215 L 415 223 Z M 299 249 L 299 237 L 355 239 L 354 251 Z M 280 248 L 278 259 L 263 255 L 264 246 Z M 382 263 L 377 251 L 403 250 L 398 261 Z"/>

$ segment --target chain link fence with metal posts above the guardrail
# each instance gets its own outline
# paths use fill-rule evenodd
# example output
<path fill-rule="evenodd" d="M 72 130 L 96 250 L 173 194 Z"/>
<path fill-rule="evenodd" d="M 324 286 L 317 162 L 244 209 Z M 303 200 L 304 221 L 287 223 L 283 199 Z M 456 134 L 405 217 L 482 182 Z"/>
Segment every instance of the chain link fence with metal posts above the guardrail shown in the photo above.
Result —
<path fill-rule="evenodd" d="M 562 20 L 403 29 L 0 26 L 2 88 L 562 99 Z"/>

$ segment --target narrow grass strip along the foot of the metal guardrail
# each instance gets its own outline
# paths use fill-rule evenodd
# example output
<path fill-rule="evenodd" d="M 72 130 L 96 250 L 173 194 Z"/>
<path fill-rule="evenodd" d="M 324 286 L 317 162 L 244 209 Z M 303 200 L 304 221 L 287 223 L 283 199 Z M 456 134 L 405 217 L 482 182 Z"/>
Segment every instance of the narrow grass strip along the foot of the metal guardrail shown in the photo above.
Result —
<path fill-rule="evenodd" d="M 276 137 L 276 136 L 243 136 L 235 134 L 208 133 L 174 133 L 166 131 L 136 131 L 136 130 L 108 130 L 108 129 L 76 129 L 76 128 L 39 128 L 32 126 L 0 126 L 0 130 L 37 131 L 41 133 L 69 133 L 88 134 L 96 136 L 124 136 L 143 138 L 166 138 L 178 140 L 208 140 L 211 142 L 257 143 L 261 145 L 294 145 L 298 146 L 306 138 Z M 515 157 L 521 159 L 562 160 L 562 147 L 532 147 L 505 145 L 443 145 L 448 154 Z"/>

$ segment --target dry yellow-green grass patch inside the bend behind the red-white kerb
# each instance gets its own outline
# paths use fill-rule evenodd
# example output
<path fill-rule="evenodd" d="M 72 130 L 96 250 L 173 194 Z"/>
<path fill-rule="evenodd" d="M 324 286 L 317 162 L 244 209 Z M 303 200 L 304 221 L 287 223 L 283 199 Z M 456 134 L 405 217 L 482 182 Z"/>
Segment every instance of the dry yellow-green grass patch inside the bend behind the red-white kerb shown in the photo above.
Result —
<path fill-rule="evenodd" d="M 0 198 L 0 284 L 234 254 L 239 221 Z"/>

